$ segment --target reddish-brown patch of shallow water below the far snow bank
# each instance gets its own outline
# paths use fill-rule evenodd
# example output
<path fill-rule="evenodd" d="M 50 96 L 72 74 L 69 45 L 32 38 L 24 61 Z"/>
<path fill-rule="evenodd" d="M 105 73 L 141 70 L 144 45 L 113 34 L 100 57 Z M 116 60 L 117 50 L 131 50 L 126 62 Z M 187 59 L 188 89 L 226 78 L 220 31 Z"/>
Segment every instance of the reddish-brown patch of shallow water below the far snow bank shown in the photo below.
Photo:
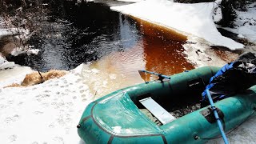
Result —
<path fill-rule="evenodd" d="M 140 31 L 144 35 L 144 59 L 145 69 L 159 74 L 177 74 L 184 70 L 194 68 L 184 58 L 182 44 L 186 43 L 186 36 L 170 30 L 165 26 L 159 26 L 134 18 Z M 146 74 L 146 81 L 152 79 L 152 75 Z"/>

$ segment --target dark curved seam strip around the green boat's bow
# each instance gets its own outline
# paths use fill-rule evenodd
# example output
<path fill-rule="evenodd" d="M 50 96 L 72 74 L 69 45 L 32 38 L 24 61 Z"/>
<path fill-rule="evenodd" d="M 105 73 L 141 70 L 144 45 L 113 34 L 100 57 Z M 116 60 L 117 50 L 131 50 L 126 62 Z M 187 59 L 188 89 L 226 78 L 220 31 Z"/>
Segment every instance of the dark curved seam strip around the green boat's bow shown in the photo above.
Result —
<path fill-rule="evenodd" d="M 118 138 L 134 138 L 134 137 L 149 137 L 149 136 L 162 136 L 164 137 L 163 134 L 142 134 L 142 135 L 118 135 L 118 134 L 114 134 L 114 133 L 110 133 L 109 131 L 105 130 L 102 126 L 100 126 L 98 124 L 98 122 L 96 122 L 95 118 L 94 118 L 94 114 L 93 114 L 93 110 L 94 107 L 98 104 L 98 102 L 95 102 L 94 106 L 92 106 L 91 110 L 90 110 L 90 116 L 93 119 L 94 123 L 103 131 L 105 131 L 107 134 L 110 134 L 113 137 L 118 137 Z"/>

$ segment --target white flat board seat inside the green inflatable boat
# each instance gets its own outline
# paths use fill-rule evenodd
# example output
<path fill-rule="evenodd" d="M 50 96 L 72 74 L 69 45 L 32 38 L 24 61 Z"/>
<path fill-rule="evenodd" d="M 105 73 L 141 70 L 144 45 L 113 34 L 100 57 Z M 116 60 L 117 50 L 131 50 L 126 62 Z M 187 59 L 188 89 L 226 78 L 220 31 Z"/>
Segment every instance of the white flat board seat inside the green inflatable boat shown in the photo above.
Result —
<path fill-rule="evenodd" d="M 154 99 L 152 99 L 151 97 L 141 99 L 139 100 L 139 102 L 141 102 L 142 105 L 145 106 L 151 114 L 154 114 L 154 116 L 158 118 L 158 120 L 162 122 L 163 125 L 176 119 L 168 111 L 162 108 L 162 106 L 155 102 Z"/>

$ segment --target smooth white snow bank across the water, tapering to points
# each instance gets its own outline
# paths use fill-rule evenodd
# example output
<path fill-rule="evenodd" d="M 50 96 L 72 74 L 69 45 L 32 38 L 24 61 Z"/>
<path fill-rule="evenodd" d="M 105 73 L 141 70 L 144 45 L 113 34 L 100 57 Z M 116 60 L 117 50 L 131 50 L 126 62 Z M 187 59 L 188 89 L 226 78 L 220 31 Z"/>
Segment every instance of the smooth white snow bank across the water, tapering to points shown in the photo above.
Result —
<path fill-rule="evenodd" d="M 214 25 L 212 13 L 214 2 L 182 4 L 168 0 L 146 0 L 126 6 L 112 6 L 123 14 L 177 30 L 190 36 L 204 38 L 212 46 L 225 46 L 230 50 L 242 49 L 243 45 L 223 37 Z"/>

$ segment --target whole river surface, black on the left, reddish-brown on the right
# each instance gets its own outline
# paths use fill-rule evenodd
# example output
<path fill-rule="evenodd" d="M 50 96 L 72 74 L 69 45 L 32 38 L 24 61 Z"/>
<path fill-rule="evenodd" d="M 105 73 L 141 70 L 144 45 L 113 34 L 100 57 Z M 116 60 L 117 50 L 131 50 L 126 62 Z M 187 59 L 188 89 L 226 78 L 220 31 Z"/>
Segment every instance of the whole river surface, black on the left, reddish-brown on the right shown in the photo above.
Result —
<path fill-rule="evenodd" d="M 185 36 L 175 39 L 161 27 L 98 2 L 68 2 L 54 9 L 47 21 L 40 22 L 41 34 L 30 38 L 30 45 L 40 50 L 38 55 L 8 61 L 40 71 L 71 70 L 90 62 L 91 68 L 122 74 L 127 80 L 136 79 L 142 69 L 168 75 L 194 68 L 182 54 Z"/>

